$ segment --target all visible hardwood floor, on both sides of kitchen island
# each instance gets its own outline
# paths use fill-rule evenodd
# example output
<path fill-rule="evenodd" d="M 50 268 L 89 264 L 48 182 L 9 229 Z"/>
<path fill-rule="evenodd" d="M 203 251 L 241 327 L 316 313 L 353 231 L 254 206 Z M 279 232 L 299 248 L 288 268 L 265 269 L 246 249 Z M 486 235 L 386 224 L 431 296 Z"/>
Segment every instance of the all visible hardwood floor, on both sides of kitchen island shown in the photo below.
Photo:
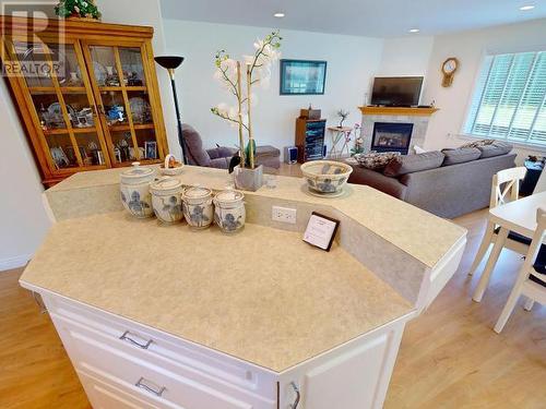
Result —
<path fill-rule="evenodd" d="M 468 229 L 461 267 L 429 310 L 408 324 L 385 408 L 546 407 L 546 308 L 524 312 L 520 301 L 505 330 L 491 329 L 521 257 L 503 251 L 484 300 L 471 300 L 479 274 L 468 277 L 466 270 L 486 214 L 455 220 Z M 0 408 L 88 408 L 47 314 L 17 285 L 21 272 L 0 273 Z"/>

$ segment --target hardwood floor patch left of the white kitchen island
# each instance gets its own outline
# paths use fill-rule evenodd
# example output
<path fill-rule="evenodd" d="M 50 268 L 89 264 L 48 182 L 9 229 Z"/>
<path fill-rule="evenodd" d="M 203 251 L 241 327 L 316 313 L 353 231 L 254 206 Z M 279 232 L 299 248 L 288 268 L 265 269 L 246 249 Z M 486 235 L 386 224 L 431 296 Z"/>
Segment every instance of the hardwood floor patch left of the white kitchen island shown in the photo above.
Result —
<path fill-rule="evenodd" d="M 0 408 L 91 408 L 47 314 L 0 272 Z"/>

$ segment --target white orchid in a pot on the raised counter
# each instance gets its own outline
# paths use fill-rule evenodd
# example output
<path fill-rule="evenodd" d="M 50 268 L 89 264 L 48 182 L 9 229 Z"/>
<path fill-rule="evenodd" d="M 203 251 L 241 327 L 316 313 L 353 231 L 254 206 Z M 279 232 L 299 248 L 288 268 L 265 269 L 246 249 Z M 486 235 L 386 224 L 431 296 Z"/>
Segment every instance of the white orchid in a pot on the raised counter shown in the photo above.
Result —
<path fill-rule="evenodd" d="M 254 53 L 244 56 L 244 61 L 229 57 L 225 50 L 215 56 L 214 76 L 235 96 L 237 104 L 229 107 L 219 104 L 211 108 L 212 113 L 228 121 L 238 129 L 239 165 L 234 169 L 237 189 L 257 191 L 262 185 L 263 167 L 256 166 L 256 141 L 252 132 L 251 107 L 256 100 L 254 85 L 268 87 L 271 80 L 271 65 L 278 60 L 282 37 L 273 32 L 254 43 Z M 244 79 L 245 76 L 245 79 Z M 245 143 L 245 133 L 248 143 Z"/>

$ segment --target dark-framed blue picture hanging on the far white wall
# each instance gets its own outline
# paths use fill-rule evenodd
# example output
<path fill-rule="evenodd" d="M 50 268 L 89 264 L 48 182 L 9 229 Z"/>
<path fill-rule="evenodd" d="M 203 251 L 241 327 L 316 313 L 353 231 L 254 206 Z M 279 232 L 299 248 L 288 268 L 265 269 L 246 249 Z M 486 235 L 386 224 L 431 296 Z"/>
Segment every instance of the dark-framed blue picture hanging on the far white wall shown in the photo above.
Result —
<path fill-rule="evenodd" d="M 281 60 L 281 95 L 323 95 L 327 61 Z"/>

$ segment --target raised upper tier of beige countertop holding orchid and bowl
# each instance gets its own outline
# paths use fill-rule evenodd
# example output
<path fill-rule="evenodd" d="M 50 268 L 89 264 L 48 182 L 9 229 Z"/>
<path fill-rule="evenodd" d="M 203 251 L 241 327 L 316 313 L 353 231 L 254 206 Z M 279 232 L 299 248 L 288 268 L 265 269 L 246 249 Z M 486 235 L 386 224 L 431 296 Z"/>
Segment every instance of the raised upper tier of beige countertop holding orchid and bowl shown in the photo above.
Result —
<path fill-rule="evenodd" d="M 80 172 L 55 185 L 48 193 L 117 185 L 122 170 Z M 185 167 L 182 175 L 177 178 L 185 184 L 201 184 L 215 190 L 225 189 L 230 180 L 226 170 L 193 166 Z M 343 196 L 322 199 L 308 194 L 301 178 L 275 178 L 275 189 L 262 187 L 256 193 L 245 194 L 330 205 L 430 268 L 466 232 L 449 220 L 366 185 L 348 184 Z"/>

